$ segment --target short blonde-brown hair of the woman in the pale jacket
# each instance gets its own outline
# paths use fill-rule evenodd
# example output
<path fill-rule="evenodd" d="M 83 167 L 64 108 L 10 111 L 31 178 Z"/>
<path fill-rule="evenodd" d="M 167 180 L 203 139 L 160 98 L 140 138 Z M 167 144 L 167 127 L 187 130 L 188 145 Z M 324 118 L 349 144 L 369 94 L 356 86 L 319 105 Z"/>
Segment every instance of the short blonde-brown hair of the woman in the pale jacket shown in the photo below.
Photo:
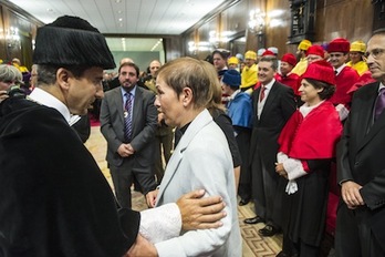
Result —
<path fill-rule="evenodd" d="M 184 88 L 192 91 L 195 109 L 206 107 L 214 96 L 212 83 L 219 83 L 217 71 L 206 61 L 179 58 L 160 66 L 157 78 L 170 86 L 177 95 Z"/>

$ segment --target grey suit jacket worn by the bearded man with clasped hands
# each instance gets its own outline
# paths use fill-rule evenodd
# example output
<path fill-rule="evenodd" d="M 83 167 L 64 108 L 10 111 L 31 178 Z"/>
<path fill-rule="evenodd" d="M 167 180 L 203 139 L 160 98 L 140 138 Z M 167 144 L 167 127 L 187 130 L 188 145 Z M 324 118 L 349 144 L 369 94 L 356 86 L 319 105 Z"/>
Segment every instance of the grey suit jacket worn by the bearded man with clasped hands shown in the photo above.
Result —
<path fill-rule="evenodd" d="M 135 163 L 141 166 L 149 166 L 154 163 L 155 131 L 157 127 L 157 110 L 154 105 L 155 94 L 136 86 L 133 107 L 133 138 L 132 146 L 135 154 Z M 107 141 L 108 164 L 119 166 L 123 157 L 117 148 L 124 142 L 124 107 L 121 86 L 107 91 L 101 107 L 101 131 Z"/>

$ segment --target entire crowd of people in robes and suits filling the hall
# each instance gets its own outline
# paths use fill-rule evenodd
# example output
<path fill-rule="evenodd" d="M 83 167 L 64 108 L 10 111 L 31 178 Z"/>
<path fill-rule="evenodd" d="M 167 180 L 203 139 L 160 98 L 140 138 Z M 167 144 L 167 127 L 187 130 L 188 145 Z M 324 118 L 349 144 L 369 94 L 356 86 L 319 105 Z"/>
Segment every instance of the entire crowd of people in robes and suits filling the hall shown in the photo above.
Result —
<path fill-rule="evenodd" d="M 244 223 L 263 223 L 262 237 L 282 233 L 279 257 L 320 256 L 325 230 L 337 256 L 385 256 L 384 45 L 378 30 L 367 48 L 303 40 L 280 60 L 273 47 L 244 60 L 217 49 L 212 64 L 157 63 L 154 92 L 123 61 L 119 86 L 104 95 L 115 63 L 103 34 L 69 16 L 39 28 L 30 96 L 20 63 L 0 65 L 0 253 L 241 256 L 237 206 L 252 201 Z M 102 97 L 115 195 L 73 127 Z M 156 182 L 159 114 L 176 137 Z M 150 207 L 142 213 L 133 174 Z"/>

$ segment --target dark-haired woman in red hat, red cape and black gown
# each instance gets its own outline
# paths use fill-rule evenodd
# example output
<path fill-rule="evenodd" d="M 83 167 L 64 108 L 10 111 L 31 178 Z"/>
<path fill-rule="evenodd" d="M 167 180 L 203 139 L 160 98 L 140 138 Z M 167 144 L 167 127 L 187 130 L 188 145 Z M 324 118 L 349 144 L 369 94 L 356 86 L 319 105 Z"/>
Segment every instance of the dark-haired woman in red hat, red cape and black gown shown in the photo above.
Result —
<path fill-rule="evenodd" d="M 335 91 L 333 68 L 311 63 L 302 75 L 304 104 L 279 137 L 275 172 L 282 176 L 283 246 L 278 255 L 319 256 L 325 228 L 329 174 L 342 124 L 329 99 Z"/>

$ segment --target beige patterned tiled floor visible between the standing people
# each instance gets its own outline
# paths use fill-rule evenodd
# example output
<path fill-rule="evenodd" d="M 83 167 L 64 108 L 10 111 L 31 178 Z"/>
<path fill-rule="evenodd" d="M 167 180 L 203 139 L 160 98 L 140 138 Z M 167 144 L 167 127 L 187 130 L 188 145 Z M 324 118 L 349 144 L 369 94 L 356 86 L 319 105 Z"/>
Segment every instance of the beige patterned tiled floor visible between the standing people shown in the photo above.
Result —
<path fill-rule="evenodd" d="M 107 178 L 110 185 L 112 185 L 110 171 L 105 162 L 106 142 L 103 135 L 100 133 L 98 126 L 91 127 L 91 136 L 85 143 L 85 146 L 90 150 L 97 164 L 100 165 L 103 174 Z M 146 208 L 144 197 L 137 192 L 133 192 L 133 208 L 142 210 Z M 239 224 L 243 238 L 243 257 L 273 257 L 280 251 L 282 243 L 282 235 L 273 237 L 260 237 L 258 229 L 263 227 L 263 224 L 244 225 L 243 219 L 254 216 L 252 204 L 238 207 Z"/>

